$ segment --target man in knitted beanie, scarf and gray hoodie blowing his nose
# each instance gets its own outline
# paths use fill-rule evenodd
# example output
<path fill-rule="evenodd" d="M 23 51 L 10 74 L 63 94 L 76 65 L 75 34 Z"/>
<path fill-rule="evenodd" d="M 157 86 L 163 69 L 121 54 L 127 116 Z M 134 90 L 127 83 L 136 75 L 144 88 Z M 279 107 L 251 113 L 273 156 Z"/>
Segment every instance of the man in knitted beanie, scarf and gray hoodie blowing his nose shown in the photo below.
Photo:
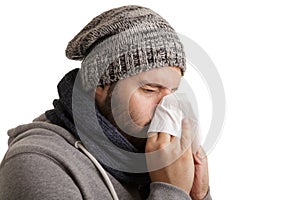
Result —
<path fill-rule="evenodd" d="M 189 120 L 180 138 L 147 135 L 185 71 L 183 46 L 161 16 L 140 6 L 104 12 L 66 55 L 82 65 L 58 84 L 54 109 L 8 132 L 0 199 L 211 199 Z"/>

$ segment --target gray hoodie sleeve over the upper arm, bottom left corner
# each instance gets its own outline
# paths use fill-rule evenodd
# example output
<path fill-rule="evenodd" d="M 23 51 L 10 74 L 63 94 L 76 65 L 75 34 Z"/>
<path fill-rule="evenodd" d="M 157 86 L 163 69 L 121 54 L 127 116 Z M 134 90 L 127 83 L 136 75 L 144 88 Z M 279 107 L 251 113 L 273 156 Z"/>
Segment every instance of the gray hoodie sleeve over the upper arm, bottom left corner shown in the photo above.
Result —
<path fill-rule="evenodd" d="M 82 200 L 63 166 L 46 155 L 17 154 L 0 166 L 0 199 Z"/>

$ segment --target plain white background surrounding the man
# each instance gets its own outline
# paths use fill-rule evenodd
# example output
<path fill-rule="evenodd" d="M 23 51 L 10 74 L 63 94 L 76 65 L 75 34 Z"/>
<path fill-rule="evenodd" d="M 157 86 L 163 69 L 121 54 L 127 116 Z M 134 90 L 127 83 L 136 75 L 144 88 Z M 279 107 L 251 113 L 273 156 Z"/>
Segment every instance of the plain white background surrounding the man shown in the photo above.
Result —
<path fill-rule="evenodd" d="M 110 8 L 139 4 L 166 18 L 214 61 L 226 93 L 209 154 L 214 200 L 300 199 L 300 6 L 297 1 L 4 1 L 0 5 L 0 157 L 6 131 L 52 107 L 79 62 L 67 42 Z"/>

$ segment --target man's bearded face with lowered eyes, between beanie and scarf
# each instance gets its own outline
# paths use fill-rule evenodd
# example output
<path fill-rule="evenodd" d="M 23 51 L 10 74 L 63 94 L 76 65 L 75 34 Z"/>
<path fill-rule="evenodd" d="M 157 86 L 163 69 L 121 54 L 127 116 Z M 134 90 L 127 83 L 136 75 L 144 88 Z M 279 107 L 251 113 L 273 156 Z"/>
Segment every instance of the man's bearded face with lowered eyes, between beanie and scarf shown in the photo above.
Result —
<path fill-rule="evenodd" d="M 180 80 L 178 67 L 152 69 L 97 88 L 96 101 L 100 112 L 136 147 L 143 148 L 157 104 L 177 90 Z"/>

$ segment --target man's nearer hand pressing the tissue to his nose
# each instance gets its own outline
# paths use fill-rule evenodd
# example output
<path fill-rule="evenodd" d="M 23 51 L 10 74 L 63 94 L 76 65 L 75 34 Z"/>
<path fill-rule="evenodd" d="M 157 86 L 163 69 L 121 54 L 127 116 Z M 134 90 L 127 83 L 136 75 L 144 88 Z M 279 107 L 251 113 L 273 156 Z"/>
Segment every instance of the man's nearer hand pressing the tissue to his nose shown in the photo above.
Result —
<path fill-rule="evenodd" d="M 153 169 L 157 163 L 165 166 L 149 172 L 152 182 L 169 183 L 190 193 L 194 179 L 194 161 L 188 122 L 182 124 L 181 138 L 163 132 L 151 133 L 145 151 L 157 151 L 155 156 L 146 156 L 148 168 Z"/>

